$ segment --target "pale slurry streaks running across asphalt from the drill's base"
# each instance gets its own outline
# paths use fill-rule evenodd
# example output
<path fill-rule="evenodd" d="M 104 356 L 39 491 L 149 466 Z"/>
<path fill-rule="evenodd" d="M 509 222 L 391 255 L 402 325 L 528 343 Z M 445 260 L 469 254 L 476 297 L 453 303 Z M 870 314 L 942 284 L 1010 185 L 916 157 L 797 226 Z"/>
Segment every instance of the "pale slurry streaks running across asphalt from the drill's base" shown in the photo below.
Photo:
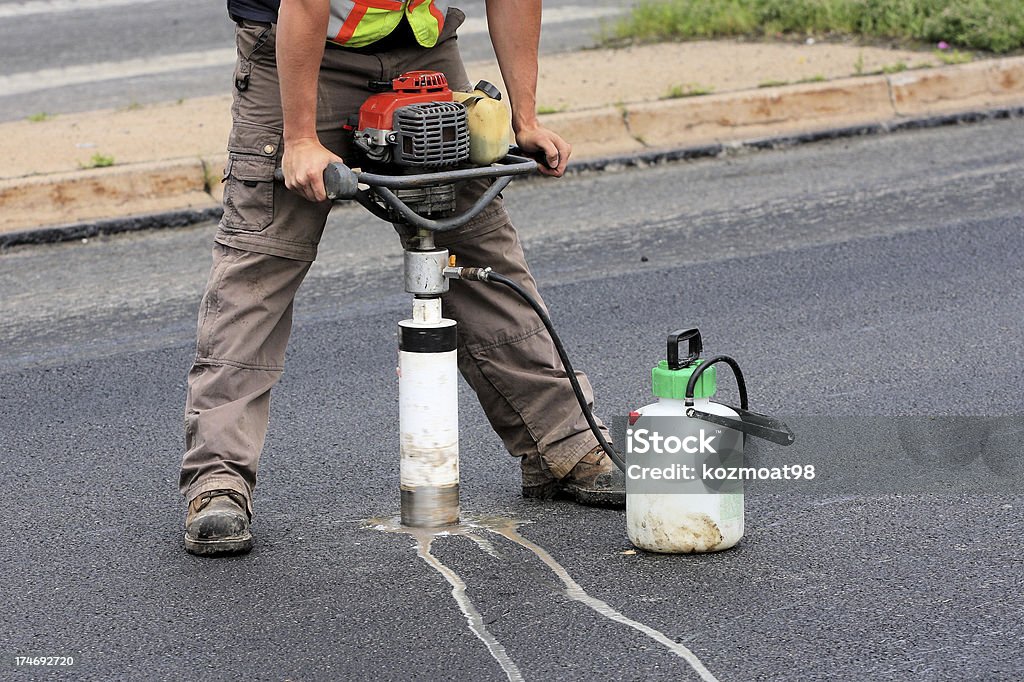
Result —
<path fill-rule="evenodd" d="M 689 664 L 690 668 L 692 668 L 693 671 L 700 676 L 701 680 L 705 680 L 706 682 L 717 682 L 715 676 L 712 675 L 707 668 L 705 668 L 700 659 L 697 658 L 697 656 L 687 647 L 670 639 L 664 633 L 651 628 L 650 626 L 623 615 L 606 602 L 588 594 L 579 583 L 572 580 L 572 577 L 569 576 L 568 571 L 565 570 L 561 564 L 555 561 L 554 557 L 552 557 L 546 549 L 537 543 L 523 538 L 519 534 L 519 526 L 527 522 L 528 521 L 521 521 L 504 516 L 469 516 L 463 518 L 462 522 L 458 525 L 450 525 L 439 528 L 414 528 L 402 525 L 398 516 L 390 516 L 368 519 L 367 527 L 375 530 L 381 530 L 383 532 L 400 532 L 411 536 L 416 540 L 417 555 L 430 567 L 440 573 L 444 580 L 447 581 L 449 585 L 452 586 L 452 596 L 455 598 L 456 603 L 459 604 L 459 608 L 466 617 L 469 629 L 481 642 L 486 645 L 490 655 L 502 667 L 502 670 L 505 671 L 505 674 L 508 676 L 510 681 L 515 682 L 523 680 L 524 678 L 522 676 L 522 672 L 520 672 L 519 668 L 515 665 L 515 662 L 509 656 L 501 642 L 499 642 L 487 630 L 483 623 L 483 616 L 480 615 L 480 611 L 476 608 L 466 593 L 466 583 L 455 570 L 443 564 L 436 556 L 431 554 L 430 548 L 435 538 L 456 536 L 469 538 L 482 551 L 486 552 L 490 556 L 498 557 L 499 555 L 497 550 L 490 541 L 485 537 L 485 534 L 489 532 L 502 536 L 506 540 L 529 550 L 537 556 L 537 558 L 543 561 L 545 565 L 547 565 L 548 568 L 550 568 L 552 572 L 554 572 L 559 580 L 561 580 L 562 584 L 565 586 L 565 593 L 570 599 L 585 604 L 609 621 L 620 623 L 643 633 Z"/>

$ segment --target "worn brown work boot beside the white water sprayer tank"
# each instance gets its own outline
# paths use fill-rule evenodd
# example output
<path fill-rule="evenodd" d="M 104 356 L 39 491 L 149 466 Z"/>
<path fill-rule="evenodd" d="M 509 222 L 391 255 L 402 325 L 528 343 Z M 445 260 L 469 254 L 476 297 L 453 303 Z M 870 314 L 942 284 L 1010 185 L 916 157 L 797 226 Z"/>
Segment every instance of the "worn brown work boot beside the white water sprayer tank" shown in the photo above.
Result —
<path fill-rule="evenodd" d="M 525 463 L 525 460 L 524 460 Z M 553 500 L 565 497 L 588 507 L 626 507 L 626 476 L 600 445 L 583 456 L 561 480 L 537 482 L 523 469 L 522 497 Z"/>

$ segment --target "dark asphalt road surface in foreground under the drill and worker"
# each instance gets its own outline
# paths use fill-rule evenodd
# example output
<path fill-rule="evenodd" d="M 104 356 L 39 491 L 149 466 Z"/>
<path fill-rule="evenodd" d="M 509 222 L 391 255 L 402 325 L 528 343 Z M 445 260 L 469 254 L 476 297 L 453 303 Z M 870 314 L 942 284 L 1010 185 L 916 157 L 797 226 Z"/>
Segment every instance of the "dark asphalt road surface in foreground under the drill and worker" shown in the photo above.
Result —
<path fill-rule="evenodd" d="M 814 461 L 811 484 L 750 485 L 744 539 L 712 555 L 522 500 L 466 386 L 474 525 L 429 555 L 388 531 L 409 302 L 390 227 L 339 208 L 255 549 L 189 556 L 176 467 L 213 226 L 0 255 L 0 677 L 73 655 L 97 680 L 1021 679 L 1020 440 L 913 453 L 894 417 L 1024 412 L 1022 158 L 1010 121 L 509 188 L 601 414 L 648 402 L 666 332 L 697 326 L 804 443 L 760 462 Z"/>

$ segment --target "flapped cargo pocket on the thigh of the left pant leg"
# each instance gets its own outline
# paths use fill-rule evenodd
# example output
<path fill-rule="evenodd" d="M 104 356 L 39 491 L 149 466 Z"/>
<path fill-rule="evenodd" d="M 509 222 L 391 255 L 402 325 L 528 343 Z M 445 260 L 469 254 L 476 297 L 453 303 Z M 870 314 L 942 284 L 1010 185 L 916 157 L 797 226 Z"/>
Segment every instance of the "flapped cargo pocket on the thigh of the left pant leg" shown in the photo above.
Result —
<path fill-rule="evenodd" d="M 227 229 L 261 231 L 273 221 L 273 171 L 281 135 L 255 126 L 237 126 L 227 145 L 224 217 Z"/>

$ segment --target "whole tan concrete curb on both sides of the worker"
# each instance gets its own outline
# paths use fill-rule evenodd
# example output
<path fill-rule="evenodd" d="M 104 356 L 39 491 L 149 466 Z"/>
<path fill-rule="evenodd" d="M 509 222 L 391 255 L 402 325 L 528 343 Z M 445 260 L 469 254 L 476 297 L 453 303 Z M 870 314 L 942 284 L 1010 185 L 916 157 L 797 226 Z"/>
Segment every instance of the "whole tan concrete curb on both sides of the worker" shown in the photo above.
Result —
<path fill-rule="evenodd" d="M 572 141 L 582 159 L 572 167 L 582 170 L 623 163 L 614 160 L 637 165 L 648 162 L 632 160 L 1006 118 L 1018 116 L 1014 105 L 1022 103 L 1024 57 L 1012 57 L 626 103 L 547 115 L 544 121 Z M 942 118 L 953 113 L 958 115 Z M 223 160 L 172 159 L 0 180 L 0 248 L 60 241 L 59 235 L 81 239 L 163 226 L 162 220 L 175 226 L 208 219 L 218 212 Z"/>

